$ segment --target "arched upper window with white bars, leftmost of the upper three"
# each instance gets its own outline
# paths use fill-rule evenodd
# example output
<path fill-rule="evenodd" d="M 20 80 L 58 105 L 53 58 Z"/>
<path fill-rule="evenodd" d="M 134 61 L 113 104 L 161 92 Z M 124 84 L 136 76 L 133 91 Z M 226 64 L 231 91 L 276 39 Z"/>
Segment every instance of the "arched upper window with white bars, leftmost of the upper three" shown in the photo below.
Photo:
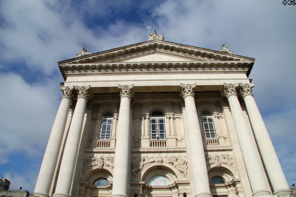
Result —
<path fill-rule="evenodd" d="M 103 114 L 100 130 L 100 139 L 110 139 L 112 132 L 113 113 L 107 111 Z"/>

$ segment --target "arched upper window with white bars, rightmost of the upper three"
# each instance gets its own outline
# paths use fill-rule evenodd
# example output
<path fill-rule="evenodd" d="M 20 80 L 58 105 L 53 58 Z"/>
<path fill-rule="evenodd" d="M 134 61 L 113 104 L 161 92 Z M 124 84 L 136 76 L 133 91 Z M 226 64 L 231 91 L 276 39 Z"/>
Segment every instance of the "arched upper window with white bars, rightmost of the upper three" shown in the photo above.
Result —
<path fill-rule="evenodd" d="M 203 110 L 201 112 L 201 122 L 206 138 L 217 138 L 217 131 L 211 111 Z"/>

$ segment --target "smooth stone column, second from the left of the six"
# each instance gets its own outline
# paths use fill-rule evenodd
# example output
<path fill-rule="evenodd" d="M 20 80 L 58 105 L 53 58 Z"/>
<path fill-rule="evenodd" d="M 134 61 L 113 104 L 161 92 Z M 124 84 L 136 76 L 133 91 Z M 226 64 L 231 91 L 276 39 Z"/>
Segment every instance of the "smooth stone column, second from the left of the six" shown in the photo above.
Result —
<path fill-rule="evenodd" d="M 77 103 L 74 109 L 59 171 L 57 186 L 53 197 L 70 197 L 85 107 L 87 99 L 90 95 L 90 86 L 75 87 L 75 89 L 78 91 Z"/>

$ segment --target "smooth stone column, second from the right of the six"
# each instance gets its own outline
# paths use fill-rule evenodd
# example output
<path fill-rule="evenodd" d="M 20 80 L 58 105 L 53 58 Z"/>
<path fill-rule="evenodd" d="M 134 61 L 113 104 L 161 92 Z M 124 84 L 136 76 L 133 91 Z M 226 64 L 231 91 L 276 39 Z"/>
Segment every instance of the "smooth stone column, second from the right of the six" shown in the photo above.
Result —
<path fill-rule="evenodd" d="M 272 195 L 266 185 L 259 158 L 256 153 L 257 149 L 252 139 L 243 110 L 237 99 L 237 88 L 238 84 L 224 84 L 223 93 L 229 102 L 253 197 L 271 197 Z"/>

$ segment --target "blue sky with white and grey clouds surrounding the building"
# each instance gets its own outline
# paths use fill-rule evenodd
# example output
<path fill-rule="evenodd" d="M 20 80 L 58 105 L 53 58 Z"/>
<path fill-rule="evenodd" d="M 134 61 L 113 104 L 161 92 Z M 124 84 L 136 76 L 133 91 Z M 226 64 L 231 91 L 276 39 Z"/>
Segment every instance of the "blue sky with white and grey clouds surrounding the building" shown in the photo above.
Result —
<path fill-rule="evenodd" d="M 0 177 L 34 192 L 61 100 L 57 62 L 165 41 L 255 58 L 250 78 L 289 185 L 296 183 L 296 5 L 282 0 L 1 0 Z"/>

